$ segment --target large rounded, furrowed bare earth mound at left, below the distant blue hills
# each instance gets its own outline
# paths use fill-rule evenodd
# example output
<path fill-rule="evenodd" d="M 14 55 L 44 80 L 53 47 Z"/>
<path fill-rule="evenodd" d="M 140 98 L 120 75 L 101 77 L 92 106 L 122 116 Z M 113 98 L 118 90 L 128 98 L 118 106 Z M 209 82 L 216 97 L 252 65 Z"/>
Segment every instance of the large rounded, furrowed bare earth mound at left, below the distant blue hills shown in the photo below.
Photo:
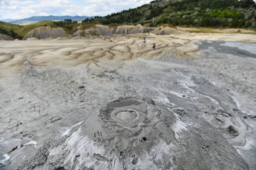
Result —
<path fill-rule="evenodd" d="M 66 32 L 62 28 L 51 28 L 47 27 L 39 27 L 37 29 L 33 29 L 29 33 L 23 37 L 23 40 L 27 40 L 28 38 L 35 37 L 37 39 L 45 39 L 45 38 L 57 38 L 57 37 L 64 37 Z"/>

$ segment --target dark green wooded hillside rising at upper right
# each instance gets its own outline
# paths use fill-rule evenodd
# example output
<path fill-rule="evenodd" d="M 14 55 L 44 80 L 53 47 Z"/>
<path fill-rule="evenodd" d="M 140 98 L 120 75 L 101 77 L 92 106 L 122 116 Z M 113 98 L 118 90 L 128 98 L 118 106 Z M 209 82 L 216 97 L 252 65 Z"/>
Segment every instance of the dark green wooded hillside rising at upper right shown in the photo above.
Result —
<path fill-rule="evenodd" d="M 136 9 L 83 21 L 92 22 L 256 28 L 256 3 L 253 0 L 155 0 Z"/>

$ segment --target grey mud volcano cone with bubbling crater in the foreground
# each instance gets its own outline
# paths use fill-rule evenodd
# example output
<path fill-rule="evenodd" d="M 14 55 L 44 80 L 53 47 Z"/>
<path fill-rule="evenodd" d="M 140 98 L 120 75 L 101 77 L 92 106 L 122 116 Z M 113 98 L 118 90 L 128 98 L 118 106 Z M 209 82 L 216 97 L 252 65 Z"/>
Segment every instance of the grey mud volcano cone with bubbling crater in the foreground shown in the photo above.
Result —
<path fill-rule="evenodd" d="M 56 131 L 18 170 L 248 170 L 206 121 L 149 98 L 117 98 Z"/>

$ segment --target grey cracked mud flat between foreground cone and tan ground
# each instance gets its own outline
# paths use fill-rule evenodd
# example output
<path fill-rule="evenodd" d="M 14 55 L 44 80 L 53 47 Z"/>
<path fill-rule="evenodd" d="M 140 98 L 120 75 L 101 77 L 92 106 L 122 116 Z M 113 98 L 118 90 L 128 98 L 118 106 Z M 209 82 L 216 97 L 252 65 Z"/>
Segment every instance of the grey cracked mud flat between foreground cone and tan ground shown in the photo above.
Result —
<path fill-rule="evenodd" d="M 256 44 L 196 44 L 201 51 L 194 58 L 166 51 L 152 60 L 95 61 L 44 70 L 30 66 L 21 75 L 2 78 L 0 169 L 15 169 L 56 129 L 72 127 L 92 109 L 131 95 L 152 98 L 164 107 L 180 106 L 204 118 L 250 170 L 256 169 Z"/>

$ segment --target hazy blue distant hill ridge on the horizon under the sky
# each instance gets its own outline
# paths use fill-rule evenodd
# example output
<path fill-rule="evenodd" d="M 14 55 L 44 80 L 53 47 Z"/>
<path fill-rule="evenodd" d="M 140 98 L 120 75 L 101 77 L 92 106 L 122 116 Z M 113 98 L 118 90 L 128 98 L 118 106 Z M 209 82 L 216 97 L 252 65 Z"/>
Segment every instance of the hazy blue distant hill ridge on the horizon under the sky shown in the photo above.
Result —
<path fill-rule="evenodd" d="M 75 21 L 81 21 L 81 20 L 85 20 L 87 18 L 91 18 L 91 17 L 87 17 L 87 16 L 39 16 L 39 17 L 30 17 L 30 18 L 25 18 L 22 20 L 14 20 L 14 21 L 5 21 L 5 22 L 10 22 L 10 23 L 15 23 L 15 24 L 20 24 L 20 23 L 24 23 L 24 22 L 38 22 L 38 21 L 42 21 L 42 20 L 61 20 L 64 21 L 65 19 L 71 19 L 71 20 L 75 20 Z"/>

